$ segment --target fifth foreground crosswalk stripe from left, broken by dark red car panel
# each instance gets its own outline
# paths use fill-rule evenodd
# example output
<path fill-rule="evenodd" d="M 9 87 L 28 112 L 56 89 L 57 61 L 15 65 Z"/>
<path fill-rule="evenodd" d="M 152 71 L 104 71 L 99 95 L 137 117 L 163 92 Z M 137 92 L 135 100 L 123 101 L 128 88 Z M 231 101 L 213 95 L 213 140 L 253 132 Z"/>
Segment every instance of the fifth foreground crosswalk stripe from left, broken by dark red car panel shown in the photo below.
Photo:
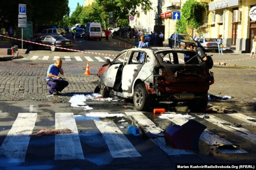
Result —
<path fill-rule="evenodd" d="M 167 119 L 171 122 L 174 122 L 175 124 L 182 125 L 185 124 L 188 120 L 183 117 L 178 117 L 174 114 L 165 114 L 167 116 Z M 227 141 L 226 139 L 223 139 L 222 137 L 213 134 L 209 130 L 204 130 L 202 134 L 200 135 L 200 140 L 204 141 L 205 143 L 209 145 L 217 145 L 217 144 L 232 144 L 231 142 Z M 241 153 L 247 153 L 245 150 L 239 148 L 238 150 L 226 150 L 226 149 L 217 149 L 219 152 L 223 154 L 241 154 Z"/>

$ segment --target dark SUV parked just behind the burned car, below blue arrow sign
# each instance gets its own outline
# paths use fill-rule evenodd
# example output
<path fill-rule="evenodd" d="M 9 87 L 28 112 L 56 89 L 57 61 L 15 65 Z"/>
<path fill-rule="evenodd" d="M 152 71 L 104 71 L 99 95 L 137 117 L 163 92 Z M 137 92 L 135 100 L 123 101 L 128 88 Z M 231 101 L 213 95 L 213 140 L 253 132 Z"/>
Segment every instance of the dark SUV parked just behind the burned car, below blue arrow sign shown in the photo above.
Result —
<path fill-rule="evenodd" d="M 175 43 L 175 34 L 171 35 L 169 40 L 169 47 L 174 48 Z M 186 43 L 195 43 L 197 42 L 193 40 L 188 34 L 176 33 L 176 45 L 175 48 L 180 48 L 181 46 L 185 45 Z"/>

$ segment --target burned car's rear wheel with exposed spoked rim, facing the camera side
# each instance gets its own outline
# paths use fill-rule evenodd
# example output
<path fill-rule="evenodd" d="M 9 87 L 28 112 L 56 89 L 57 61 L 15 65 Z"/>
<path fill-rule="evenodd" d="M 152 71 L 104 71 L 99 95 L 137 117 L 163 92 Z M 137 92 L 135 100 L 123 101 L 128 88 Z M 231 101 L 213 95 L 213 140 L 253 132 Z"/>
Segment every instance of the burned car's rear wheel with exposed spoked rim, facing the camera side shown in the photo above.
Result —
<path fill-rule="evenodd" d="M 147 110 L 150 106 L 150 95 L 144 84 L 137 84 L 134 89 L 134 106 L 139 111 Z"/>

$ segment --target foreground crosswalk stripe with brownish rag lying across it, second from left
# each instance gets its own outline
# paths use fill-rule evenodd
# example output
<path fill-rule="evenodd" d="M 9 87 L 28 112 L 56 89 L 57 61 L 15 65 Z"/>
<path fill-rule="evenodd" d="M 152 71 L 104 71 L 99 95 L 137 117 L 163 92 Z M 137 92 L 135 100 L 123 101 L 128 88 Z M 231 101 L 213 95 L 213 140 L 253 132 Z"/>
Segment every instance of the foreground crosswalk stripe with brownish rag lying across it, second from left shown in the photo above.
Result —
<path fill-rule="evenodd" d="M 55 160 L 84 159 L 73 113 L 55 113 L 55 128 L 73 133 L 55 135 Z"/>

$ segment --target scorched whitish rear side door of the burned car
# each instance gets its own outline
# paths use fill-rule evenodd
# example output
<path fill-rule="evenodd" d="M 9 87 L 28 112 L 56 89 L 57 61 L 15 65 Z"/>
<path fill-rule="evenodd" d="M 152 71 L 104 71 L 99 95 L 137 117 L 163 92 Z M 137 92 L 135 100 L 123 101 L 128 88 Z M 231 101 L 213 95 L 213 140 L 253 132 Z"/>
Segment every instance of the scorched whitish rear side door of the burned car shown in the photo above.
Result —
<path fill-rule="evenodd" d="M 131 51 L 122 70 L 122 91 L 132 93 L 132 84 L 139 74 L 147 54 L 143 51 Z M 127 56 L 128 56 L 127 55 Z M 142 59 L 143 58 L 143 59 Z"/>

